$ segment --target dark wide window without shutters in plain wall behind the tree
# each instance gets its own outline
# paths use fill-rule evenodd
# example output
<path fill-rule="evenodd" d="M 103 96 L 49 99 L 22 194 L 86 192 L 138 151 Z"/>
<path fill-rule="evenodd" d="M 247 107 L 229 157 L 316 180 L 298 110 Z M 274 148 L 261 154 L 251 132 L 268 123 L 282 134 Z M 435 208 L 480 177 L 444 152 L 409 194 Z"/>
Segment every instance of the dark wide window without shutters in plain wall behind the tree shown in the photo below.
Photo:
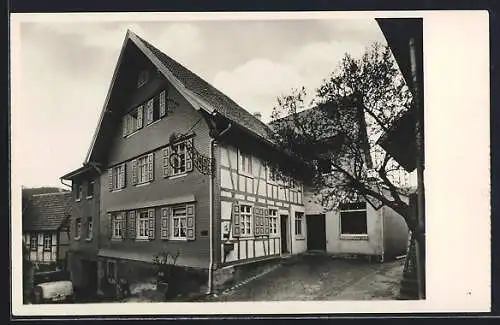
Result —
<path fill-rule="evenodd" d="M 340 208 L 341 235 L 367 235 L 366 202 L 344 203 Z"/>

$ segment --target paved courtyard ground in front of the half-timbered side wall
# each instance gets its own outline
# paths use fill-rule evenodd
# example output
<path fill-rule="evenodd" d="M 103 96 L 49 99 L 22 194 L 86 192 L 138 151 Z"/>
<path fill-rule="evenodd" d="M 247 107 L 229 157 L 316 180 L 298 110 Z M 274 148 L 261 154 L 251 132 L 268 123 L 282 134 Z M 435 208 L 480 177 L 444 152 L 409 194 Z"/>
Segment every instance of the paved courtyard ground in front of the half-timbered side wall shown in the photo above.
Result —
<path fill-rule="evenodd" d="M 393 300 L 404 259 L 384 264 L 303 255 L 209 301 Z"/>

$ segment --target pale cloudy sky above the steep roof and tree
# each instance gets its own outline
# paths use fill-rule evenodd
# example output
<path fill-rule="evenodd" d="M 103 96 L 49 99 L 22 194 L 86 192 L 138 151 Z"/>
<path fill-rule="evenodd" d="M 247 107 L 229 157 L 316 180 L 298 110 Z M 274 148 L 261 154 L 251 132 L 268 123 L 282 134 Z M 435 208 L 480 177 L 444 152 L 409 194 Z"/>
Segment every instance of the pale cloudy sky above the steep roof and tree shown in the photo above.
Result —
<path fill-rule="evenodd" d="M 22 23 L 24 186 L 60 186 L 82 166 L 127 28 L 269 121 L 276 96 L 315 89 L 348 52 L 385 39 L 365 20 Z M 16 55 L 16 54 L 14 54 Z"/>

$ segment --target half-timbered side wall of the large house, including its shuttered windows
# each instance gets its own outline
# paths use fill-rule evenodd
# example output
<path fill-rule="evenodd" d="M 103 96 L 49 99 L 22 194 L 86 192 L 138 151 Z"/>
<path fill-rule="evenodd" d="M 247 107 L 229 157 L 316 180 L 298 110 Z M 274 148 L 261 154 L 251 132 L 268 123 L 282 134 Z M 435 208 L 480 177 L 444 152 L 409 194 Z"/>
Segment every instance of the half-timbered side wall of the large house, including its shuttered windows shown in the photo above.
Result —
<path fill-rule="evenodd" d="M 295 211 L 304 211 L 301 185 L 273 182 L 261 159 L 221 144 L 220 188 L 222 264 L 279 256 L 281 215 L 288 216 L 292 253 L 305 250 L 295 243 L 293 217 Z"/>

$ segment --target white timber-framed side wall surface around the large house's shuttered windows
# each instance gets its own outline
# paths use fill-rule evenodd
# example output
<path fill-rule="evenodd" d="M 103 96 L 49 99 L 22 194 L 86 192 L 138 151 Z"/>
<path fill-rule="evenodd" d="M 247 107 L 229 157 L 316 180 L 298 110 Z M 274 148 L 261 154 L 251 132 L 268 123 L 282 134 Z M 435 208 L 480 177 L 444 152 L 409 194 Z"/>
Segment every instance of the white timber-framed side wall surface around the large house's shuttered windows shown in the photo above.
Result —
<path fill-rule="evenodd" d="M 252 171 L 244 172 L 241 168 L 242 153 L 235 147 L 219 145 L 221 169 L 221 256 L 224 256 L 224 241 L 232 241 L 233 250 L 221 262 L 229 263 L 252 258 L 278 256 L 281 254 L 280 215 L 288 215 L 288 248 L 292 253 L 306 250 L 305 239 L 295 238 L 294 216 L 295 211 L 304 212 L 302 205 L 302 187 L 288 189 L 272 182 L 263 161 L 250 154 Z M 248 155 L 249 153 L 247 153 Z M 233 203 L 259 206 L 266 209 L 277 209 L 277 234 L 268 237 L 256 238 L 253 236 L 240 236 L 239 240 L 232 236 L 230 226 Z M 303 234 L 306 235 L 305 217 Z M 228 234 L 229 232 L 229 234 Z"/>

